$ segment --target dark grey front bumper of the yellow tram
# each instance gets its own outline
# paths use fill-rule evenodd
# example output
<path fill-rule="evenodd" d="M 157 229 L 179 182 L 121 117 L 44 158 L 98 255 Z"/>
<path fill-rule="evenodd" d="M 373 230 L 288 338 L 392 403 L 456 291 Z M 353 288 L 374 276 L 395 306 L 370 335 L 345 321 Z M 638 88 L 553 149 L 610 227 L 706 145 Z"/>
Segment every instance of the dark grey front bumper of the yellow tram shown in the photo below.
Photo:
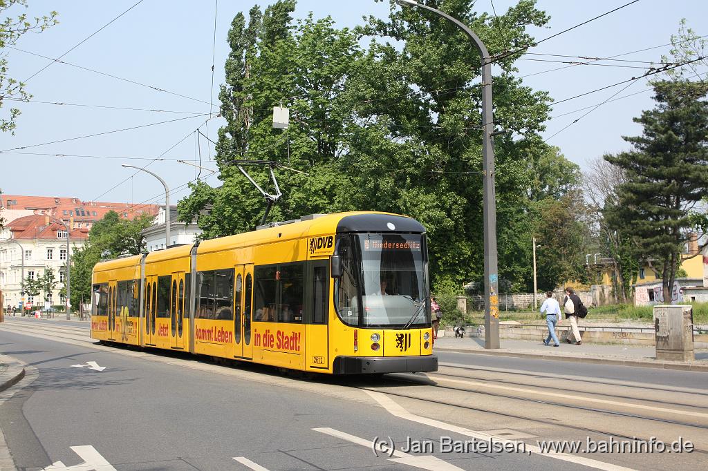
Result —
<path fill-rule="evenodd" d="M 438 357 L 425 356 L 338 356 L 332 372 L 340 375 L 416 373 L 438 371 Z"/>

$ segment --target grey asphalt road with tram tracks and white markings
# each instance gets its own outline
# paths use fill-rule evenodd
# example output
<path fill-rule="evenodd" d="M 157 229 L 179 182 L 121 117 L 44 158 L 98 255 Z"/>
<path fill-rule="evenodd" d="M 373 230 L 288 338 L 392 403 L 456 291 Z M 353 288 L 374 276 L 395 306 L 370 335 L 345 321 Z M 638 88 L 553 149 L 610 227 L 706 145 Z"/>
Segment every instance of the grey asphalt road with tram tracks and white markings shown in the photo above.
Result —
<path fill-rule="evenodd" d="M 93 447 L 118 470 L 700 469 L 708 458 L 705 373 L 442 353 L 445 366 L 430 376 L 304 380 L 94 346 L 86 331 L 86 323 L 52 320 L 0 325 L 0 351 L 30 365 L 0 405 L 20 469 L 58 461 L 69 468 L 57 469 L 70 469 L 83 461 L 72 446 Z M 441 436 L 469 441 L 481 432 L 522 440 L 527 452 L 544 439 L 633 434 L 683 436 L 698 451 L 576 453 L 567 461 L 440 450 Z M 394 462 L 373 453 L 375 437 L 398 450 L 409 438 L 433 449 L 398 451 Z"/>

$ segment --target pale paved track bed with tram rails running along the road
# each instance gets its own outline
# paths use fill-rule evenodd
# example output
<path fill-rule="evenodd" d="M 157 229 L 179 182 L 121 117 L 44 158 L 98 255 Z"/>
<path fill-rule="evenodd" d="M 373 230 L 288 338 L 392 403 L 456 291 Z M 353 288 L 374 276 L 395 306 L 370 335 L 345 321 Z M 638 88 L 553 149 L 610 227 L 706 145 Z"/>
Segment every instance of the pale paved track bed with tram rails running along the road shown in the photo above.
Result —
<path fill-rule="evenodd" d="M 88 326 L 10 319 L 1 329 L 98 347 L 89 338 Z M 125 350 L 115 349 L 118 352 Z M 144 358 L 190 358 L 180 355 L 154 351 Z M 278 376 L 275 369 L 262 366 L 242 365 L 239 371 L 251 378 Z M 580 443 L 578 450 L 554 449 L 547 450 L 546 454 L 558 458 L 563 452 L 563 455 L 573 455 L 579 460 L 590 459 L 590 467 L 617 469 L 607 467 L 612 463 L 613 466 L 634 469 L 697 465 L 700 469 L 700 464 L 708 459 L 708 390 L 662 384 L 662 374 L 663 371 L 656 371 L 656 381 L 637 382 L 442 362 L 436 373 L 398 373 L 382 378 L 329 377 L 309 383 L 314 383 L 314 387 L 326 394 L 327 390 L 332 390 L 328 395 L 341 396 L 338 392 L 341 388 L 358 390 L 389 413 L 434 426 L 441 434 L 467 430 L 472 437 L 482 434 L 501 441 L 523 441 L 534 450 L 537 450 L 539 441 L 541 446 L 551 448 Z M 294 388 L 302 388 L 305 383 L 298 378 L 280 378 L 278 381 Z M 655 453 L 632 453 L 629 448 L 626 453 L 611 455 L 583 453 L 593 446 L 617 446 L 619 450 L 619 445 L 612 445 L 612 441 L 661 443 L 666 448 L 653 448 Z M 675 443 L 679 443 L 678 448 Z M 395 443 L 396 450 L 401 453 L 410 452 L 411 446 L 416 446 L 416 442 L 400 443 L 399 440 Z M 382 447 L 385 451 L 386 446 Z M 405 461 L 409 459 L 406 456 L 399 458 Z M 576 463 L 588 465 L 582 460 Z"/>

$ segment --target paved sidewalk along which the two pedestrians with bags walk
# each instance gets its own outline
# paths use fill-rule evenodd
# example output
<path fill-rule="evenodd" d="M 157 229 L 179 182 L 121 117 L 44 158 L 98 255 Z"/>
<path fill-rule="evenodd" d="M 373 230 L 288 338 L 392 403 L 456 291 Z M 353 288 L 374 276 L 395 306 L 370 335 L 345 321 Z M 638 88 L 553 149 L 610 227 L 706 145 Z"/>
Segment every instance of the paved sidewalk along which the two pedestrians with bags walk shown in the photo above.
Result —
<path fill-rule="evenodd" d="M 457 351 L 471 354 L 513 356 L 517 358 L 547 359 L 555 361 L 577 361 L 580 363 L 643 366 L 684 371 L 705 371 L 708 373 L 708 350 L 695 350 L 695 361 L 662 361 L 654 357 L 654 347 L 622 344 L 571 345 L 546 347 L 541 339 L 532 340 L 501 339 L 500 349 L 485 349 L 484 339 L 465 336 L 438 337 L 434 351 Z"/>

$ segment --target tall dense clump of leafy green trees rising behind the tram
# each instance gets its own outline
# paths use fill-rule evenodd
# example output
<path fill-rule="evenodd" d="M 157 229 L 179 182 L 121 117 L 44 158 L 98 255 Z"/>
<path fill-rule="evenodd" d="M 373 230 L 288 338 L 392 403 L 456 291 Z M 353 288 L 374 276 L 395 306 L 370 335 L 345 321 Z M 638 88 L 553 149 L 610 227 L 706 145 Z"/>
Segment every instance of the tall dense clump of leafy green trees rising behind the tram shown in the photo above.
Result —
<path fill-rule="evenodd" d="M 472 25 L 492 54 L 532 43 L 527 25 L 548 20 L 530 0 L 498 18 L 476 13 L 472 0 L 436 6 Z M 481 278 L 480 58 L 469 38 L 393 3 L 389 18 L 367 18 L 353 31 L 333 28 L 330 18 L 293 21 L 294 8 L 278 1 L 263 13 L 252 8 L 248 21 L 234 18 L 220 94 L 222 185 L 193 185 L 178 205 L 181 218 L 197 216 L 207 238 L 251 230 L 265 203 L 231 161 L 270 159 L 307 172 L 278 170 L 284 195 L 273 219 L 353 209 L 407 214 L 427 228 L 435 283 Z M 514 61 L 502 59 L 494 79 L 496 122 L 515 133 L 495 143 L 499 267 L 513 289 L 525 289 L 535 221 L 529 169 L 549 153 L 539 132 L 550 99 L 515 78 Z M 287 132 L 272 128 L 280 104 L 290 108 Z M 249 170 L 269 185 L 265 171 Z"/>

